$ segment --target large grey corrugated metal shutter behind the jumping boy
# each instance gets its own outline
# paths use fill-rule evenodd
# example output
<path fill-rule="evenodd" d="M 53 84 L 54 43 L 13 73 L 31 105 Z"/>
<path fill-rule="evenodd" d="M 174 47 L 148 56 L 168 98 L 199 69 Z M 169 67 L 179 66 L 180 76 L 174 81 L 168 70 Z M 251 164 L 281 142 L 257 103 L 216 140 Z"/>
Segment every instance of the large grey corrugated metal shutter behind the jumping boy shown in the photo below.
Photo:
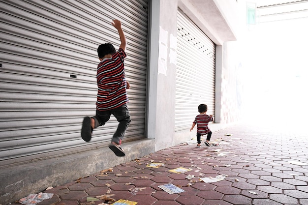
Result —
<path fill-rule="evenodd" d="M 0 164 L 78 152 L 110 143 L 114 117 L 80 137 L 95 115 L 96 49 L 127 38 L 126 78 L 132 122 L 125 140 L 144 137 L 148 0 L 0 1 Z"/>

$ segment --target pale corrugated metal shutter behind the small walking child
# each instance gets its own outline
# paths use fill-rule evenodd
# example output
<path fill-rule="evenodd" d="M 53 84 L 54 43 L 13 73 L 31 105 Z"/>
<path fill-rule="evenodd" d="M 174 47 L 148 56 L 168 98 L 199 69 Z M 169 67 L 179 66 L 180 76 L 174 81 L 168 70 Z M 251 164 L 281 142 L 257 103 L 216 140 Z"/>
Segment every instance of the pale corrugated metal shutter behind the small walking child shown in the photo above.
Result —
<path fill-rule="evenodd" d="M 208 105 L 214 115 L 215 44 L 178 10 L 175 130 L 185 130 L 198 114 L 198 105 Z"/>

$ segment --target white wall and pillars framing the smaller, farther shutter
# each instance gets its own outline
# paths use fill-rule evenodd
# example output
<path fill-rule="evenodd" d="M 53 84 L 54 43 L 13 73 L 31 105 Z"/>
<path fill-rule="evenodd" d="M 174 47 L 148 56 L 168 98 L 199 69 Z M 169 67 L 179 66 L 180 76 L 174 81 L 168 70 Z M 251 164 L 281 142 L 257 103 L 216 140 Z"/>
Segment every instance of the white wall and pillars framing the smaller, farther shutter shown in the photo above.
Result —
<path fill-rule="evenodd" d="M 171 36 L 177 36 L 178 7 L 217 45 L 216 113 L 219 116 L 216 122 L 221 123 L 212 124 L 211 129 L 218 130 L 239 117 L 236 111 L 238 96 L 233 95 L 237 92 L 234 85 L 236 80 L 232 79 L 236 77 L 234 72 L 239 62 L 236 59 L 233 61 L 227 59 L 229 52 L 233 52 L 233 47 L 229 46 L 226 49 L 224 43 L 236 40 L 235 33 L 241 33 L 239 19 L 245 13 L 241 10 L 243 4 L 236 0 L 228 3 L 216 0 L 153 0 L 150 24 L 147 137 L 155 139 L 155 150 L 179 144 L 195 135 L 189 132 L 189 129 L 175 133 L 176 65 L 169 62 L 169 53 Z M 245 17 L 243 18 L 245 22 Z M 163 59 L 161 55 L 163 53 L 160 52 L 166 52 L 167 58 Z M 232 75 L 229 75 L 229 71 Z M 228 86 L 229 84 L 232 86 Z M 223 88 L 229 89 L 223 90 Z M 227 109 L 223 110 L 224 103 L 229 104 Z"/>

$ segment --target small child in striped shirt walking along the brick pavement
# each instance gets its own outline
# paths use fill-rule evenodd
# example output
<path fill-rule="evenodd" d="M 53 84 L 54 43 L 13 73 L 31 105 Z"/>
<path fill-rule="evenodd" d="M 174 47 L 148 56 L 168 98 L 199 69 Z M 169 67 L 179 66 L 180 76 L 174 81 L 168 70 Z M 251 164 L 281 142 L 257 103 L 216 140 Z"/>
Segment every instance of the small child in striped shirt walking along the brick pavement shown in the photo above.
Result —
<path fill-rule="evenodd" d="M 198 112 L 199 115 L 196 116 L 195 120 L 192 122 L 192 126 L 190 128 L 191 130 L 194 128 L 194 126 L 197 124 L 197 147 L 201 147 L 201 135 L 207 134 L 207 140 L 205 143 L 206 146 L 210 146 L 210 140 L 212 136 L 212 131 L 208 127 L 209 122 L 214 121 L 213 115 L 207 115 L 206 112 L 208 111 L 208 106 L 205 104 L 200 104 L 198 106 Z"/>

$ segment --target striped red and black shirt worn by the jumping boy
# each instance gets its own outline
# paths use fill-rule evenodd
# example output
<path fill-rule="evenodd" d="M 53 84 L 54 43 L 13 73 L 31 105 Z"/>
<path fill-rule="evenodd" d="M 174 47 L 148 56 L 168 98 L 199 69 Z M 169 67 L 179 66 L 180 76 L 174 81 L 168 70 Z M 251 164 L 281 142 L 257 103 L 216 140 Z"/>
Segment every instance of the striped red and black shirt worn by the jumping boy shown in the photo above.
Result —
<path fill-rule="evenodd" d="M 126 53 L 119 49 L 110 59 L 103 59 L 97 66 L 96 109 L 112 110 L 128 103 L 124 59 Z"/>

